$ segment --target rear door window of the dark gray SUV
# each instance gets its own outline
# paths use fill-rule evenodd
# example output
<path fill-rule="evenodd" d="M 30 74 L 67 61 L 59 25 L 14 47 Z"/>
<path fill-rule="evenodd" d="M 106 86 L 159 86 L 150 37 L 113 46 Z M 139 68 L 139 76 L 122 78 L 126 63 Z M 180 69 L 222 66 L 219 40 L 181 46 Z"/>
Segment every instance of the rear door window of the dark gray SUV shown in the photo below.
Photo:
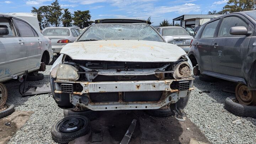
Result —
<path fill-rule="evenodd" d="M 217 25 L 219 23 L 219 20 L 208 23 L 206 27 L 204 28 L 201 38 L 212 38 L 214 37 L 214 32 L 217 28 Z"/>

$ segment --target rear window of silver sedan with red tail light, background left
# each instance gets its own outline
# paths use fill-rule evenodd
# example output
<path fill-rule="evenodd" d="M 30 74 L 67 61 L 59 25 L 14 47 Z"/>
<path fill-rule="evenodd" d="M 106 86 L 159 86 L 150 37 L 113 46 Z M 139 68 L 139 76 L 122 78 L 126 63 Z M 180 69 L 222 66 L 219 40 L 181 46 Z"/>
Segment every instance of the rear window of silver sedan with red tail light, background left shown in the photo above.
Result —
<path fill-rule="evenodd" d="M 42 33 L 44 36 L 69 36 L 68 28 L 48 28 Z"/>

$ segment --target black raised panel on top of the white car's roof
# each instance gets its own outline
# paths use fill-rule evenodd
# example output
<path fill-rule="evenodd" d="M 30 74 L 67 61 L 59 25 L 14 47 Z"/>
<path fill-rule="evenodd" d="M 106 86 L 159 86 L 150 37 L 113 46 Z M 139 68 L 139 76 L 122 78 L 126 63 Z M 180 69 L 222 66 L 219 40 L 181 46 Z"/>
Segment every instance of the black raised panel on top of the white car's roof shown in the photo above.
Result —
<path fill-rule="evenodd" d="M 129 18 L 105 18 L 95 20 L 94 23 L 148 23 L 151 24 L 150 21 L 147 20 L 138 20 L 138 19 L 129 19 Z"/>

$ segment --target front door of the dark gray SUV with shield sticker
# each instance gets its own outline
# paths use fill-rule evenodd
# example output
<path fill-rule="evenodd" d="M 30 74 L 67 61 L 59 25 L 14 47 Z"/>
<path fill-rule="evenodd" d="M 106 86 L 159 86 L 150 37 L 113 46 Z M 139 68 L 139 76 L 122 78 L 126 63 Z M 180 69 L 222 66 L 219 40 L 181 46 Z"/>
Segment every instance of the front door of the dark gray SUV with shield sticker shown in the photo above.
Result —
<path fill-rule="evenodd" d="M 212 45 L 212 66 L 216 73 L 244 78 L 242 67 L 247 59 L 251 37 L 230 34 L 229 30 L 234 26 L 245 26 L 248 29 L 253 25 L 239 14 L 225 16 Z"/>

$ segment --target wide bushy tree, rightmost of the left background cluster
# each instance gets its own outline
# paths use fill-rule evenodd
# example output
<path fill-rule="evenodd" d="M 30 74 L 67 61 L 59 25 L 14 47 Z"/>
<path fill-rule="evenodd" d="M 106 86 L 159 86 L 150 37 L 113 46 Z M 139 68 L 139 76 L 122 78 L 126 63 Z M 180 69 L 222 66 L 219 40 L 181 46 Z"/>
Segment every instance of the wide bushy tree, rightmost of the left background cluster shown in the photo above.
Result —
<path fill-rule="evenodd" d="M 85 28 L 87 26 L 90 26 L 92 23 L 94 23 L 93 21 L 90 21 L 91 19 L 91 15 L 90 15 L 90 11 L 75 11 L 74 12 L 74 23 L 73 25 L 78 26 L 80 28 Z"/>

